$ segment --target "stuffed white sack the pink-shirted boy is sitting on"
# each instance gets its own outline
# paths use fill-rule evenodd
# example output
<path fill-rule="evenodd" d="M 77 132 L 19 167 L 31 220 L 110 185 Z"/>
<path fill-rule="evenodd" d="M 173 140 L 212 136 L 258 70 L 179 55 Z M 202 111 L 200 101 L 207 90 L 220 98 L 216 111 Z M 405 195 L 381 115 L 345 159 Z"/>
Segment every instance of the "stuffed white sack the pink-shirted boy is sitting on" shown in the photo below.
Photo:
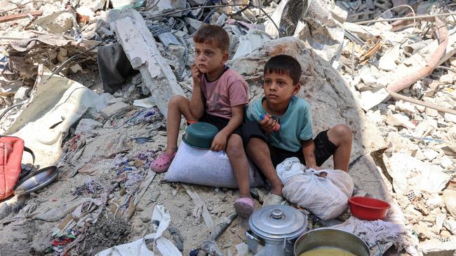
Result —
<path fill-rule="evenodd" d="M 249 165 L 250 186 L 263 186 L 260 173 L 250 162 Z M 226 152 L 201 150 L 185 143 L 180 144 L 165 180 L 211 187 L 238 187 Z"/>

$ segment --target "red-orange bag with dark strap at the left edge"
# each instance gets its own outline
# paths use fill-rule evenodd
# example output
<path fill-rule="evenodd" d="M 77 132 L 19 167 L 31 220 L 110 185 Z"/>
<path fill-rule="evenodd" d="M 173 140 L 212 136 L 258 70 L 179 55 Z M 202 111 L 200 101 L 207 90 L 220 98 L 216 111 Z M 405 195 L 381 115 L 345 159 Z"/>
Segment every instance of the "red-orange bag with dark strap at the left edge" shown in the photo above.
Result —
<path fill-rule="evenodd" d="M 20 176 L 20 162 L 24 150 L 32 154 L 34 161 L 32 150 L 25 148 L 22 138 L 0 136 L 0 200 L 13 194 L 13 187 Z"/>

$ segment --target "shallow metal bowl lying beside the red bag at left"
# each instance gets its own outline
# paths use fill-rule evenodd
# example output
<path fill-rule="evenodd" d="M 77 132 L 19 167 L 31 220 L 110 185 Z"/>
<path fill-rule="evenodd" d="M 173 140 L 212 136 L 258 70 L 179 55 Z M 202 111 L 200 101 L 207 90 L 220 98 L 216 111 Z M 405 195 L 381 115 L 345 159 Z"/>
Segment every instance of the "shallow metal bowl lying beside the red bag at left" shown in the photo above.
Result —
<path fill-rule="evenodd" d="M 56 166 L 49 166 L 38 171 L 34 171 L 29 175 L 19 180 L 13 188 L 15 195 L 29 194 L 36 190 L 46 187 L 49 183 L 52 183 L 57 178 L 58 169 Z"/>

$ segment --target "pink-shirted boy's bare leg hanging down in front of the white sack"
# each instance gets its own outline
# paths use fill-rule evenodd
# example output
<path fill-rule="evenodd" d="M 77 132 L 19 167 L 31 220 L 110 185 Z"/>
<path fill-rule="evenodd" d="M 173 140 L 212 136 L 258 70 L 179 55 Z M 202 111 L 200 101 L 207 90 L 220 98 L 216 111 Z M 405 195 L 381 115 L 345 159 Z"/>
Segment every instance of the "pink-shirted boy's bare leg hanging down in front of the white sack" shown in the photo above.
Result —
<path fill-rule="evenodd" d="M 227 142 L 227 155 L 232 164 L 234 176 L 239 186 L 239 197 L 250 197 L 250 180 L 246 152 L 244 151 L 242 138 L 238 134 L 232 134 Z"/>

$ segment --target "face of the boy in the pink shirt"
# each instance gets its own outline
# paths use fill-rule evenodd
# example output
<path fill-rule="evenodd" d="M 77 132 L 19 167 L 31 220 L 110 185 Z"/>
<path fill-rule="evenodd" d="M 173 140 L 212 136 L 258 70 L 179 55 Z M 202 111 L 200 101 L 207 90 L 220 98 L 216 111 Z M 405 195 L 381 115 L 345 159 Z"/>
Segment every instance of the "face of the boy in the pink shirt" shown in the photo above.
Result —
<path fill-rule="evenodd" d="M 228 53 L 214 44 L 195 43 L 195 64 L 201 73 L 211 73 L 221 69 L 228 60 Z"/>

